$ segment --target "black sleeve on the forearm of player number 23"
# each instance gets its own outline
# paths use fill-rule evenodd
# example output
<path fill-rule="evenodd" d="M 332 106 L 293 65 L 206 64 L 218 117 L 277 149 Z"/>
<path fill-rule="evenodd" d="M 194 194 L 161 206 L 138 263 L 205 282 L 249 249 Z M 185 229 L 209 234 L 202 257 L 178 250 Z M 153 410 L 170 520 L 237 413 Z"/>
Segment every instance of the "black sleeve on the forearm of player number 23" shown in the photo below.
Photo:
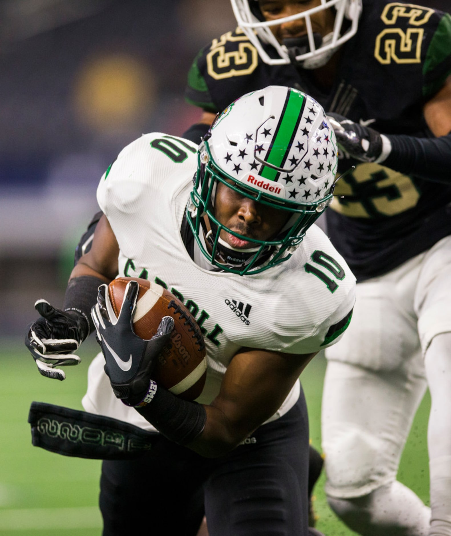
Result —
<path fill-rule="evenodd" d="M 386 136 L 392 151 L 382 165 L 405 175 L 451 184 L 451 132 L 439 138 Z"/>

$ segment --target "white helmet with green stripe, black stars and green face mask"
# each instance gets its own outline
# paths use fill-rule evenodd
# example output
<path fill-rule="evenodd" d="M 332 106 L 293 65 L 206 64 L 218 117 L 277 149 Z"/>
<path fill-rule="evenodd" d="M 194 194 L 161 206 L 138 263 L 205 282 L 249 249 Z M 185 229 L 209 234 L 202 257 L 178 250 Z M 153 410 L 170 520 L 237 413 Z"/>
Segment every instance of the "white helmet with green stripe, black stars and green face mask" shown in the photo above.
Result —
<path fill-rule="evenodd" d="M 232 102 L 216 117 L 198 150 L 187 220 L 202 254 L 222 270 L 240 275 L 287 260 L 332 201 L 336 170 L 334 131 L 310 96 L 268 86 Z M 217 182 L 284 211 L 287 223 L 266 241 L 228 229 L 214 213 Z M 234 249 L 221 239 L 221 230 L 254 245 Z"/>

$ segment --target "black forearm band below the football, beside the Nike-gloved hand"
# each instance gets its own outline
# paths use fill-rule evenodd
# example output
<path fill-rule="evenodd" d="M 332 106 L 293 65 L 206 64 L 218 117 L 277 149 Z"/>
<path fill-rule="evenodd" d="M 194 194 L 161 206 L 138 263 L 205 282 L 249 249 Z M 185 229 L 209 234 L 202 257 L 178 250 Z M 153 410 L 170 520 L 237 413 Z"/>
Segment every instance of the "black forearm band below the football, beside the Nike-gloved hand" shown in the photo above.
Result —
<path fill-rule="evenodd" d="M 135 409 L 161 434 L 179 445 L 191 443 L 207 421 L 204 406 L 178 398 L 153 380 L 146 396 Z"/>

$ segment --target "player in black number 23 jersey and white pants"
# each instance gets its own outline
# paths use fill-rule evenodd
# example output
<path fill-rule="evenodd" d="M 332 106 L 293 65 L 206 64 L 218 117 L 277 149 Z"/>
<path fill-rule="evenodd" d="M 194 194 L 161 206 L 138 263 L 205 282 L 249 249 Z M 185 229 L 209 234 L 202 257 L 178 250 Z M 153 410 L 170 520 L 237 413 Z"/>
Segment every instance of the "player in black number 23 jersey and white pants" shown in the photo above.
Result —
<path fill-rule="evenodd" d="M 361 534 L 451 534 L 451 17 L 425 3 L 232 0 L 240 27 L 200 51 L 186 89 L 198 136 L 275 83 L 334 117 L 351 170 L 327 232 L 358 293 L 327 353 L 322 441 L 329 504 Z M 396 480 L 426 386 L 431 509 Z"/>

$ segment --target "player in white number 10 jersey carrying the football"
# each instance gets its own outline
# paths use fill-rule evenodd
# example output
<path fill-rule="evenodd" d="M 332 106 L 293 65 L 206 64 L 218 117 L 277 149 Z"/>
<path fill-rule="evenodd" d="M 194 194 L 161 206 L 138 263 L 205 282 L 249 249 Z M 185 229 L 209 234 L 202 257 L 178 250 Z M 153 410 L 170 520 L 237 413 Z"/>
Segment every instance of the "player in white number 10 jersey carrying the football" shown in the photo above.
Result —
<path fill-rule="evenodd" d="M 41 374 L 64 379 L 59 367 L 77 364 L 71 352 L 95 324 L 103 353 L 89 367 L 85 409 L 160 432 L 145 456 L 103 462 L 104 535 L 147 524 L 155 534 L 196 534 L 203 512 L 190 506 L 202 493 L 212 536 L 315 533 L 298 378 L 341 338 L 355 301 L 354 275 L 313 225 L 332 200 L 336 167 L 321 106 L 269 86 L 226 108 L 199 147 L 147 134 L 101 178 L 92 248 L 62 310 L 37 302 L 42 318 L 27 345 Z M 208 368 L 195 402 L 148 376 L 137 382 L 112 358 L 136 349 L 141 373 L 172 329 L 163 319 L 162 339 L 134 335 L 133 283 L 111 314 L 106 285 L 117 274 L 166 286 L 196 316 Z"/>

